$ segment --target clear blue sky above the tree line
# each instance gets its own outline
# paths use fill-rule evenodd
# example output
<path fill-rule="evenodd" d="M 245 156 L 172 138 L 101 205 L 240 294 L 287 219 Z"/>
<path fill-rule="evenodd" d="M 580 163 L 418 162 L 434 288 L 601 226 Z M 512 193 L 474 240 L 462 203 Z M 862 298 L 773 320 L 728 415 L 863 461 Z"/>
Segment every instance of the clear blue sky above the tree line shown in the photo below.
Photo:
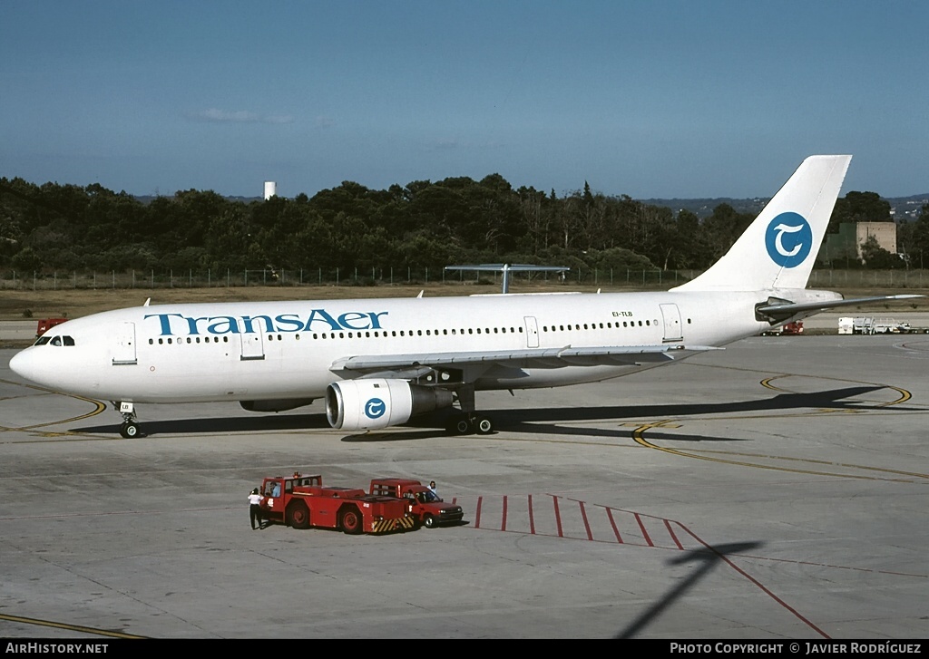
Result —
<path fill-rule="evenodd" d="M 0 176 L 312 196 L 501 174 L 558 195 L 929 192 L 929 3 L 0 3 Z"/>

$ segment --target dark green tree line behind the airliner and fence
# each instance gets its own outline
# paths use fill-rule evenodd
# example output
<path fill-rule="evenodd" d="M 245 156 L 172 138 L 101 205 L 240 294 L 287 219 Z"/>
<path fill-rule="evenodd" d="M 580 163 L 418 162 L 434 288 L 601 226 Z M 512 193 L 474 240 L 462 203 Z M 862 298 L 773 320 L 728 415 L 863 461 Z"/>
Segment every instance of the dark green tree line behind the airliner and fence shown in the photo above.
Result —
<path fill-rule="evenodd" d="M 929 204 L 901 223 L 898 251 L 929 266 Z M 0 178 L 0 269 L 20 272 L 317 269 L 532 263 L 572 269 L 701 269 L 754 216 L 722 203 L 705 218 L 582 189 L 514 189 L 501 175 L 373 190 L 350 181 L 308 197 L 230 200 L 210 190 L 138 200 L 87 187 Z M 836 203 L 842 222 L 891 222 L 873 192 Z M 905 267 L 867 246 L 867 265 Z M 879 265 L 880 264 L 880 265 Z M 844 262 L 843 262 L 844 266 Z"/>

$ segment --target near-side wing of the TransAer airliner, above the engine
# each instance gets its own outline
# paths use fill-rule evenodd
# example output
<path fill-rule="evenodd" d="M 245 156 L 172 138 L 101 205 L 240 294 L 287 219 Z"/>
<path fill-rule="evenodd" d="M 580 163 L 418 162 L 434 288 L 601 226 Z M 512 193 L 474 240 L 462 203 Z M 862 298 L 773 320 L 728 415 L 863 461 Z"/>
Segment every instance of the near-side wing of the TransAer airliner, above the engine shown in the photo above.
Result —
<path fill-rule="evenodd" d="M 411 355 L 355 355 L 334 361 L 332 371 L 359 371 L 454 367 L 470 364 L 508 368 L 561 368 L 566 366 L 635 366 L 674 359 L 675 353 L 721 350 L 708 345 L 635 345 L 591 348 L 524 348 L 462 353 Z"/>

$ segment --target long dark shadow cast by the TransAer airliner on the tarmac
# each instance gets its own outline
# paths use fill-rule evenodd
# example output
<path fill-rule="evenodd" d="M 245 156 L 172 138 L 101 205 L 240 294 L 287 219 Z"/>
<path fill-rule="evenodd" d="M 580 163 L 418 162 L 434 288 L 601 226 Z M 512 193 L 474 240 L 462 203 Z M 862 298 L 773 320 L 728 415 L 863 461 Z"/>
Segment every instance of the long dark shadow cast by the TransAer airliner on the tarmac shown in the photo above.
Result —
<path fill-rule="evenodd" d="M 884 389 L 881 386 L 857 386 L 831 389 L 809 394 L 777 394 L 760 400 L 726 403 L 683 404 L 662 403 L 659 405 L 606 406 L 606 407 L 547 407 L 495 409 L 490 412 L 498 431 L 512 433 L 549 433 L 591 435 L 603 437 L 627 437 L 631 430 L 609 430 L 603 428 L 579 428 L 560 426 L 559 423 L 596 420 L 624 419 L 679 419 L 681 417 L 738 414 L 746 412 L 789 412 L 804 409 L 867 410 L 883 409 L 884 404 L 854 400 L 855 396 L 870 394 Z M 904 411 L 905 407 L 894 407 Z M 437 428 L 444 428 L 448 412 L 437 412 L 412 420 L 392 429 L 389 433 L 349 434 L 344 442 L 387 442 L 412 439 L 429 439 L 437 435 Z M 224 434 L 224 433 L 267 433 L 301 430 L 331 430 L 323 414 L 281 414 L 237 417 L 211 417 L 203 419 L 151 420 L 141 422 L 142 434 Z M 118 424 L 73 428 L 74 433 L 118 433 Z M 660 439 L 654 431 L 649 437 Z M 682 439 L 668 435 L 669 439 Z M 732 438 L 687 436 L 688 441 L 739 441 Z"/>

